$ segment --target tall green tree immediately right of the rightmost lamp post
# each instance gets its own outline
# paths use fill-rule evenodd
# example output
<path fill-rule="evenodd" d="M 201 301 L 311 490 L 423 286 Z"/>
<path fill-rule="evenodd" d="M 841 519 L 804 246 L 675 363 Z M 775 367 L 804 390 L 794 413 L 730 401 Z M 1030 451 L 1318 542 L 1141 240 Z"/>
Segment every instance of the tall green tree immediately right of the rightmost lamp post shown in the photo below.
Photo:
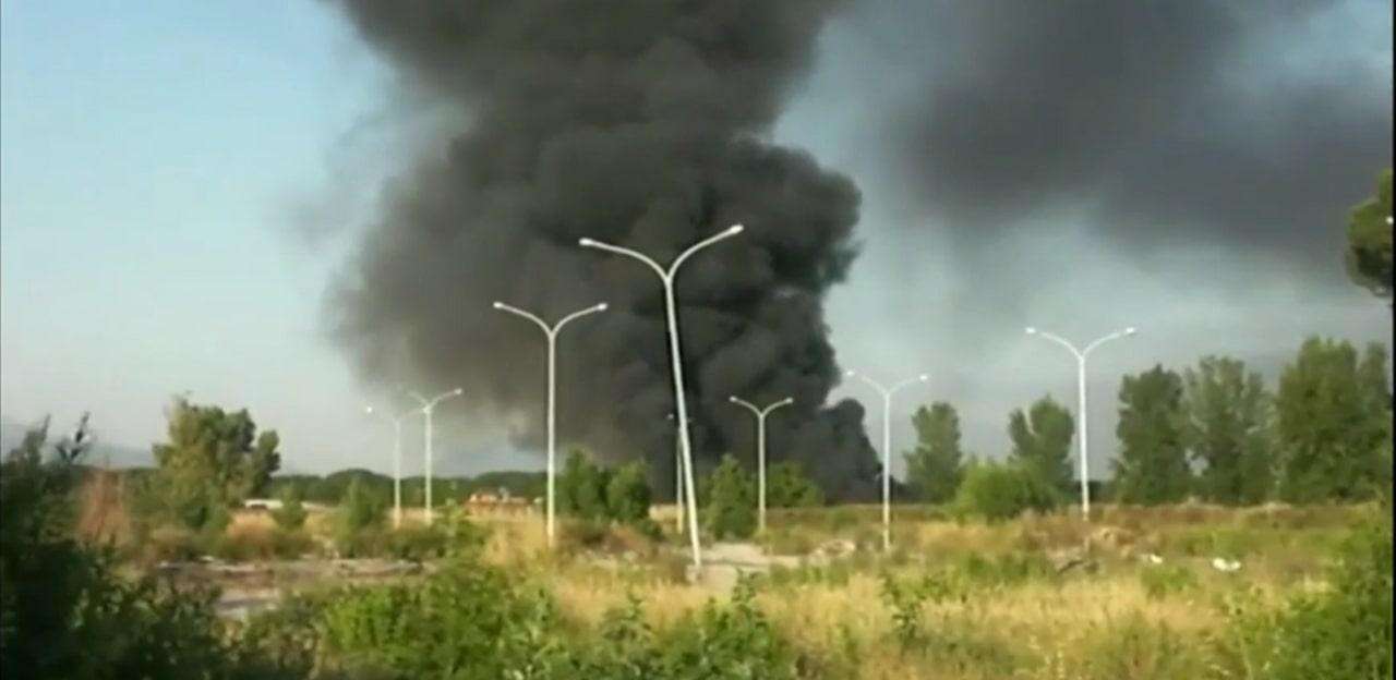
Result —
<path fill-rule="evenodd" d="M 1182 379 L 1161 365 L 1120 385 L 1114 488 L 1124 503 L 1182 500 L 1192 489 L 1184 445 Z"/>

